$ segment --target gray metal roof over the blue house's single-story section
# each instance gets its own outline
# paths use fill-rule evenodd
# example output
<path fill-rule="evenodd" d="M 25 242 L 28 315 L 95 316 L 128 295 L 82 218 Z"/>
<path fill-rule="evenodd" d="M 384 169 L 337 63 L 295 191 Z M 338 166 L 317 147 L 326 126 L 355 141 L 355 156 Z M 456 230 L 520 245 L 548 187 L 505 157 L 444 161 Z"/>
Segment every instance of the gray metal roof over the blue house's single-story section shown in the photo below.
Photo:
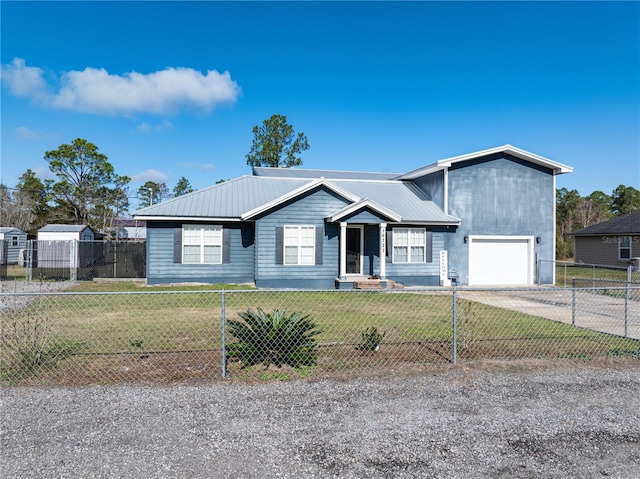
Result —
<path fill-rule="evenodd" d="M 242 176 L 136 211 L 138 219 L 251 219 L 316 187 L 338 192 L 349 201 L 369 199 L 400 215 L 402 222 L 458 224 L 418 187 L 401 181 L 328 180 Z"/>

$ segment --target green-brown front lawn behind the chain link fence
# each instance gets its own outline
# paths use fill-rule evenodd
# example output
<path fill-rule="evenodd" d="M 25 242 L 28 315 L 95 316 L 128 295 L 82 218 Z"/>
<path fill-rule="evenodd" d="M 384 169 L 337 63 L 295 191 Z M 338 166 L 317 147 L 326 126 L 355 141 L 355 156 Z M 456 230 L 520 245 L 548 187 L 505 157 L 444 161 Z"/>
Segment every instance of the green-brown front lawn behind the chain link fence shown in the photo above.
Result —
<path fill-rule="evenodd" d="M 40 381 L 84 384 L 219 377 L 221 292 L 210 285 L 209 293 L 201 287 L 180 287 L 183 292 L 176 292 L 175 287 L 141 292 L 138 286 L 126 283 L 118 284 L 122 294 L 86 292 L 82 287 L 73 294 L 38 297 L 23 307 L 23 311 L 54 318 L 52 344 L 73 351 L 58 361 L 55 369 L 43 368 L 36 375 Z M 238 312 L 257 307 L 311 315 L 323 331 L 318 336 L 318 366 L 295 377 L 452 360 L 450 293 L 250 290 L 228 291 L 225 299 L 225 315 L 232 319 L 238 319 Z M 638 341 L 533 315 L 461 299 L 457 311 L 458 357 L 462 360 L 586 360 L 638 357 L 639 353 Z M 359 347 L 362 332 L 371 327 L 386 332 L 379 351 Z M 0 369 L 10 363 L 8 354 L 0 346 Z M 240 375 L 235 363 L 230 362 L 228 369 L 232 377 Z M 256 374 L 283 379 L 264 370 Z"/>

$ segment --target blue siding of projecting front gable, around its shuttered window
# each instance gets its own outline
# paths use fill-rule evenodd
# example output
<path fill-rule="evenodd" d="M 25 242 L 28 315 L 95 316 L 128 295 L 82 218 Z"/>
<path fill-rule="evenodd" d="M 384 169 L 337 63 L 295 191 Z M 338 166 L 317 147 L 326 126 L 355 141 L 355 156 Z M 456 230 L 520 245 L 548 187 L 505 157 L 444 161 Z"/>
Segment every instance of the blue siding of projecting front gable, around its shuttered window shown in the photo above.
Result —
<path fill-rule="evenodd" d="M 339 225 L 325 217 L 343 208 L 346 200 L 319 188 L 256 220 L 256 270 L 258 287 L 333 288 L 339 274 Z M 276 228 L 284 225 L 312 225 L 321 228 L 322 264 L 313 266 L 276 264 Z"/>

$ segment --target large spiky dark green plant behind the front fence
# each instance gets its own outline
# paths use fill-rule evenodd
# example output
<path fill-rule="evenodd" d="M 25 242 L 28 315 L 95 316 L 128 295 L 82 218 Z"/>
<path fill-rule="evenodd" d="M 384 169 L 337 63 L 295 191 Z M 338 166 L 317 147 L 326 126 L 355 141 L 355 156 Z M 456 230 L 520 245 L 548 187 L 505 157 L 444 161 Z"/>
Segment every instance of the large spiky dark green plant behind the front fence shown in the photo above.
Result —
<path fill-rule="evenodd" d="M 294 368 L 316 364 L 318 347 L 315 336 L 321 333 L 309 316 L 287 310 L 265 313 L 248 309 L 238 313 L 244 321 L 227 321 L 229 332 L 237 339 L 227 346 L 229 356 L 239 358 L 243 368 L 263 363 Z"/>

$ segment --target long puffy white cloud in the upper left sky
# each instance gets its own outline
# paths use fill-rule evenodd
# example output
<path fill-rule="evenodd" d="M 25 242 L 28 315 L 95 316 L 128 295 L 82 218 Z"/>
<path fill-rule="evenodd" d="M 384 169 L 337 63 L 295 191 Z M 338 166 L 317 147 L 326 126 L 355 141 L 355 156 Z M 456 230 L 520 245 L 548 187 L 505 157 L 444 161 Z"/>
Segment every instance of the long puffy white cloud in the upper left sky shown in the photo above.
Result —
<path fill-rule="evenodd" d="M 87 67 L 64 73 L 59 89 L 51 93 L 43 70 L 27 67 L 20 58 L 2 66 L 2 81 L 15 95 L 31 96 L 54 108 L 99 115 L 208 113 L 219 104 L 235 102 L 241 92 L 229 72 L 202 74 L 191 68 L 166 68 L 146 75 L 113 75 Z"/>

